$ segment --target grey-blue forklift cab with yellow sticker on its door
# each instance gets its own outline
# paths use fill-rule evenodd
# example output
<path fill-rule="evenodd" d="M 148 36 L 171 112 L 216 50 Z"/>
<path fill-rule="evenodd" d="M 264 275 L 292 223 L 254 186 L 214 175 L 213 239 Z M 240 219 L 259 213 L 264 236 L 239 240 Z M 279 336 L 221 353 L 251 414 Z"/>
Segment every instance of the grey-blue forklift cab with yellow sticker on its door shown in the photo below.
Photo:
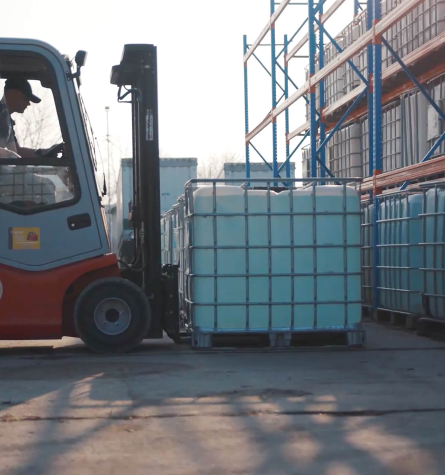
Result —
<path fill-rule="evenodd" d="M 5 90 L 1 99 L 0 222 L 8 223 L 8 229 L 0 233 L 0 263 L 36 272 L 110 252 L 91 150 L 66 59 L 44 43 L 3 40 L 1 93 L 8 81 L 28 81 L 33 94 L 43 99 L 31 102 L 23 116 L 20 91 Z M 12 104 L 6 101 L 8 95 Z M 11 114 L 16 116 L 14 128 Z M 39 123 L 43 114 L 45 123 Z M 53 137 L 58 143 L 48 142 Z M 22 229 L 38 239 L 30 242 Z"/>

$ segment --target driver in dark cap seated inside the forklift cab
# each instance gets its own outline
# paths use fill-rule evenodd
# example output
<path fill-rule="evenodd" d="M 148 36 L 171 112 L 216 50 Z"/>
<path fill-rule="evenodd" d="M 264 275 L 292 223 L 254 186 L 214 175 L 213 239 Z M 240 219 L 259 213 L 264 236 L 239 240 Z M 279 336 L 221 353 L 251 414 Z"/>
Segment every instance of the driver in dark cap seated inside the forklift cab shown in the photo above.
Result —
<path fill-rule="evenodd" d="M 10 114 L 23 114 L 30 104 L 38 104 L 39 97 L 32 93 L 31 85 L 26 79 L 9 78 L 5 82 L 4 95 L 0 101 L 0 147 L 15 150 L 24 158 L 37 158 L 33 149 L 20 147 L 14 133 L 14 121 Z M 0 156 L 4 152 L 0 152 Z"/>

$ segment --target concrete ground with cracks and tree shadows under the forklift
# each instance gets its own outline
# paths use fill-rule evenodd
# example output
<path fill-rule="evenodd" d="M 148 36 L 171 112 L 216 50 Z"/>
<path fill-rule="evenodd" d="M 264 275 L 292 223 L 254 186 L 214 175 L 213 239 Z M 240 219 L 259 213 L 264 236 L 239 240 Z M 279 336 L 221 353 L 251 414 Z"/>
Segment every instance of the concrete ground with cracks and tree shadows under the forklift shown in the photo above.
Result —
<path fill-rule="evenodd" d="M 445 343 L 102 357 L 0 342 L 0 474 L 444 474 Z"/>

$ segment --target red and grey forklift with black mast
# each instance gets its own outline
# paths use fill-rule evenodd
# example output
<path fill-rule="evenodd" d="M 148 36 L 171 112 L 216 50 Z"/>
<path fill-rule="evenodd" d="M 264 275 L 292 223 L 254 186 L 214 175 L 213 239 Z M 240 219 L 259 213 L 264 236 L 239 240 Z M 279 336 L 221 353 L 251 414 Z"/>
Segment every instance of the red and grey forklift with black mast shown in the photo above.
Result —
<path fill-rule="evenodd" d="M 48 149 L 19 155 L 2 100 L 0 131 L 9 132 L 0 136 L 0 340 L 79 337 L 111 354 L 164 332 L 179 342 L 177 266 L 161 267 L 157 48 L 127 44 L 111 68 L 118 102 L 132 113 L 130 263 L 111 253 L 106 185 L 97 180 L 79 93 L 85 59 L 78 51 L 74 65 L 45 42 L 0 38 L 0 78 L 49 89 L 62 135 Z"/>

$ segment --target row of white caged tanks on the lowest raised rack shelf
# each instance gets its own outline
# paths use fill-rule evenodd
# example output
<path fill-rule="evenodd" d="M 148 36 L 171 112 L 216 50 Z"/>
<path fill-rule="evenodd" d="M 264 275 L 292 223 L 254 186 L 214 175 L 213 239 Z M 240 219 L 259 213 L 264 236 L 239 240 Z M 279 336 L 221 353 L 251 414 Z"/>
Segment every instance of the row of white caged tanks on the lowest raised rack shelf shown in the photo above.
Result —
<path fill-rule="evenodd" d="M 445 76 L 439 76 L 427 88 L 436 102 L 445 97 Z M 420 162 L 444 130 L 442 118 L 416 90 L 382 107 L 382 171 L 395 170 Z M 327 143 L 325 162 L 336 177 L 369 176 L 368 117 L 350 123 L 334 133 Z M 445 153 L 445 142 L 435 155 Z M 311 147 L 302 149 L 303 176 L 310 176 Z M 317 163 L 317 176 L 320 176 Z"/>

